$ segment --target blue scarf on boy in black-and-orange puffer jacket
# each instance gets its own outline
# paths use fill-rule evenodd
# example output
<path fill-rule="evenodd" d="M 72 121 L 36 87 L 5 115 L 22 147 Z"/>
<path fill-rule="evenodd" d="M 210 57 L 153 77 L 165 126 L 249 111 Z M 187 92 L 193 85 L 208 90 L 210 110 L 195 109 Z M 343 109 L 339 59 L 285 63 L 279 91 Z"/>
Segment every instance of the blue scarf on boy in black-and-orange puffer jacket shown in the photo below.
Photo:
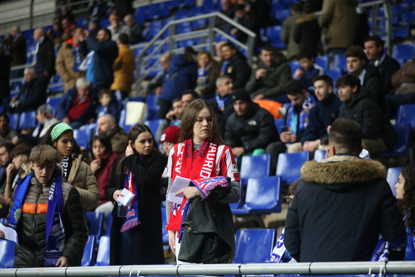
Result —
<path fill-rule="evenodd" d="M 10 211 L 8 227 L 17 231 L 22 206 L 32 176 L 29 174 L 20 180 L 15 190 L 15 199 Z M 62 177 L 56 176 L 49 189 L 48 208 L 46 213 L 46 246 L 43 258 L 45 265 L 55 265 L 61 257 L 65 245 L 65 229 L 62 222 Z"/>

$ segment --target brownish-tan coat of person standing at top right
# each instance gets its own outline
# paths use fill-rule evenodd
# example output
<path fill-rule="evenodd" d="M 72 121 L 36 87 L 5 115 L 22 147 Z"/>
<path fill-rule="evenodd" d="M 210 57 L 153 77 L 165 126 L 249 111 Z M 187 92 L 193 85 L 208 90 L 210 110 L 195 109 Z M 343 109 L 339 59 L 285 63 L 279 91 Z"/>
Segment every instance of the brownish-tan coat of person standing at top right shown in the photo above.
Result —
<path fill-rule="evenodd" d="M 319 24 L 326 49 L 352 46 L 359 27 L 356 0 L 324 0 Z"/>

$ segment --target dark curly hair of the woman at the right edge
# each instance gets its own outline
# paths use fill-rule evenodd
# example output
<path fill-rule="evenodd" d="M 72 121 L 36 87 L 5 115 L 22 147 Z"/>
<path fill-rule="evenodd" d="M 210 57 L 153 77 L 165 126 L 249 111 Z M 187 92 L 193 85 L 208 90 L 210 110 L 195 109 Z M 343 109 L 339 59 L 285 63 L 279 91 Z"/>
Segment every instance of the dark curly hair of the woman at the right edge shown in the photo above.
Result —
<path fill-rule="evenodd" d="M 415 231 L 415 163 L 405 165 L 400 171 L 402 177 L 405 179 L 403 184 L 403 199 L 397 202 L 399 211 L 402 216 L 406 213 L 406 227 Z M 415 233 L 415 232 L 414 232 Z"/>

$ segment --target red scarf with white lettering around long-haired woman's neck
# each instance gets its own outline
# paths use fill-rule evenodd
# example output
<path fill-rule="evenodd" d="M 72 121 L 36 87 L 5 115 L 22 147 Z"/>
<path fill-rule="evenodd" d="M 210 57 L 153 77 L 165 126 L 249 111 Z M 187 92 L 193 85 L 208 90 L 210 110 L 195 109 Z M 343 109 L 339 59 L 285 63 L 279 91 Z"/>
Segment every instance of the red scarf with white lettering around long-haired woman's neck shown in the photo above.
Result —
<path fill-rule="evenodd" d="M 216 154 L 217 145 L 211 142 L 205 141 L 199 151 L 193 151 L 192 139 L 184 141 L 171 173 L 173 182 L 176 176 L 190 180 L 216 176 Z M 186 201 L 184 197 L 181 204 L 172 203 L 167 230 L 180 230 Z"/>

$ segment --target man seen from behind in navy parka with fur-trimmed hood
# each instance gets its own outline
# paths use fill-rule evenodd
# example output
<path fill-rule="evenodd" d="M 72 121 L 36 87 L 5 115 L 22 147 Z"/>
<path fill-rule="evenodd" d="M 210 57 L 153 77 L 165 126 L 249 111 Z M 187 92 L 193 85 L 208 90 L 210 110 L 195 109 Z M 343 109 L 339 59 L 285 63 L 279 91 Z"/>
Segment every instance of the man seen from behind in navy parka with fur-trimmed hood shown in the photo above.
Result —
<path fill-rule="evenodd" d="M 405 226 L 385 167 L 359 158 L 359 123 L 334 120 L 328 139 L 333 156 L 305 162 L 300 170 L 303 181 L 288 207 L 284 245 L 297 262 L 369 261 L 382 235 L 389 260 L 402 260 Z"/>

